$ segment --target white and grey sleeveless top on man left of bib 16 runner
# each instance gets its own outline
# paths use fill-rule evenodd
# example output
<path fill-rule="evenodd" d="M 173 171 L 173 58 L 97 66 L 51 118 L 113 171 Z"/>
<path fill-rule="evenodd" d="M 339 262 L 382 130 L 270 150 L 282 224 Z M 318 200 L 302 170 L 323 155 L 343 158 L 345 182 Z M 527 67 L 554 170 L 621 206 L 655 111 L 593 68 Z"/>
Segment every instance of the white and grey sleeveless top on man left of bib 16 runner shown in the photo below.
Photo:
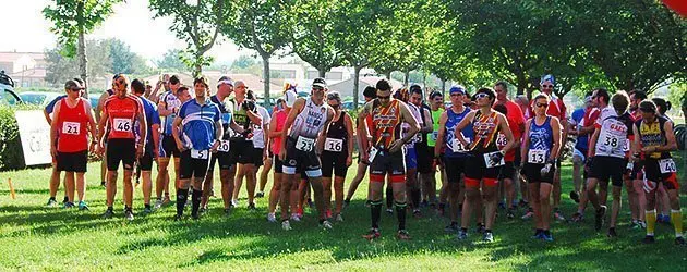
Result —
<path fill-rule="evenodd" d="M 298 136 L 311 139 L 317 138 L 317 134 L 324 127 L 326 120 L 327 108 L 325 103 L 323 102 L 321 106 L 316 106 L 312 99 L 308 99 L 303 111 L 296 116 L 289 136 L 292 138 L 298 138 Z"/>

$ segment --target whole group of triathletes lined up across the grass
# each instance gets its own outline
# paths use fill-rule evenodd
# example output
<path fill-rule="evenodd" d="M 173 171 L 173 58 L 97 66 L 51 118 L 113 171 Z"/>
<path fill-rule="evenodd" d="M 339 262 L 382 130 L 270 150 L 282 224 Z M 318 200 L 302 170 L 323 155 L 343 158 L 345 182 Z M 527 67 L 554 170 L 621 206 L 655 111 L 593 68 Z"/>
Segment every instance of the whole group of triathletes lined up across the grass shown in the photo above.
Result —
<path fill-rule="evenodd" d="M 227 76 L 219 78 L 217 91 L 210 96 L 204 77 L 194 78 L 186 87 L 178 76 L 165 75 L 152 90 L 141 79 L 130 82 L 117 74 L 112 89 L 103 95 L 94 111 L 82 98 L 83 82 L 74 78 L 65 83 L 65 96 L 45 110 L 51 125 L 55 161 L 48 206 L 57 206 L 60 173 L 65 172 L 63 207 L 88 209 L 84 173 L 89 152 L 103 157 L 106 219 L 114 215 L 120 164 L 126 220 L 134 219 L 133 181 L 137 184 L 138 175 L 143 181 L 143 213 L 171 202 L 171 158 L 174 220 L 183 220 L 189 198 L 191 218 L 197 220 L 205 213 L 214 195 L 215 165 L 219 166 L 225 213 L 229 215 L 239 205 L 243 177 L 248 209 L 255 210 L 254 199 L 265 196 L 274 164 L 267 220 L 279 221 L 279 205 L 281 227 L 291 230 L 291 222 L 302 219 L 303 207 L 312 198 L 320 225 L 332 228 L 332 221 L 343 221 L 342 210 L 369 169 L 371 228 L 363 235 L 366 239 L 381 236 L 386 197 L 386 212 L 396 213 L 398 219 L 399 239 L 410 238 L 407 212 L 422 217 L 421 208 L 426 206 L 450 219 L 445 231 L 459 239 L 468 238 L 474 214 L 482 240 L 493 242 L 498 207 L 506 210 L 507 219 L 514 219 L 522 207 L 522 219 L 533 218 L 532 238 L 552 242 L 551 219 L 565 220 L 558 207 L 562 149 L 568 135 L 575 135 L 574 172 L 583 172 L 586 181 L 575 178 L 576 190 L 570 197 L 579 202 L 579 210 L 572 221 L 581 221 L 586 206 L 591 203 L 594 227 L 600 231 L 611 183 L 607 234 L 617 236 L 625 185 L 632 226 L 647 230 L 643 242 L 654 242 L 659 206 L 662 211 L 670 207 L 675 243 L 684 245 L 679 184 L 670 154 L 677 145 L 673 123 L 665 115 L 665 101 L 647 100 L 641 91 L 628 97 L 625 91 L 611 95 L 598 88 L 587 97 L 587 107 L 568 121 L 565 104 L 552 95 L 554 85 L 554 77 L 545 75 L 532 100 L 518 97 L 515 102 L 508 99 L 505 82 L 480 88 L 472 96 L 465 87 L 454 86 L 448 91 L 450 103 L 445 106 L 439 91 L 425 97 L 418 85 L 394 90 L 388 81 L 381 79 L 365 88 L 366 103 L 353 119 L 342 109 L 340 95 L 328 91 L 323 78 L 313 81 L 306 98 L 299 98 L 296 86 L 287 84 L 272 114 L 256 103 L 243 82 Z M 345 196 L 343 182 L 355 146 L 358 173 Z M 158 170 L 157 200 L 152 206 L 154 161 Z M 258 178 L 260 166 L 263 171 Z M 442 181 L 438 198 L 437 171 Z"/>

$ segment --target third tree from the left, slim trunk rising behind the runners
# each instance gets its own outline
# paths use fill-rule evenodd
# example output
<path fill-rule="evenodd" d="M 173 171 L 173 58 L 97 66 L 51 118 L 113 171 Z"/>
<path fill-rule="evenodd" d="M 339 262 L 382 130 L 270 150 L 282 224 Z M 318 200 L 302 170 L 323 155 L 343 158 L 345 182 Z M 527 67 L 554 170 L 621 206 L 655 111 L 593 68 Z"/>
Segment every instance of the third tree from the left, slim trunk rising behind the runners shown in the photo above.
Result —
<path fill-rule="evenodd" d="M 262 58 L 265 97 L 269 97 L 269 58 L 289 38 L 289 9 L 281 0 L 237 0 L 232 2 L 234 13 L 227 17 L 221 29 L 240 47 L 255 50 Z M 269 107 L 269 99 L 265 99 L 265 108 Z"/>

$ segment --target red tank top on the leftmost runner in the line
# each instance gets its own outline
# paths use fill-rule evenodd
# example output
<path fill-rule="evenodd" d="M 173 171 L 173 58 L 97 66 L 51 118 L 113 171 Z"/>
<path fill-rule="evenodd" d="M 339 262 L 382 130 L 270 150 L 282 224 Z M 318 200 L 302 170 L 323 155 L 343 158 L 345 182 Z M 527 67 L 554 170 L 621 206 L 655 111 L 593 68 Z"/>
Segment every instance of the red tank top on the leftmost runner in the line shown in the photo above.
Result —
<path fill-rule="evenodd" d="M 58 120 L 58 151 L 81 152 L 88 150 L 88 114 L 84 107 L 84 100 L 79 99 L 74 108 L 67 104 L 67 97 L 60 100 L 60 115 Z"/>

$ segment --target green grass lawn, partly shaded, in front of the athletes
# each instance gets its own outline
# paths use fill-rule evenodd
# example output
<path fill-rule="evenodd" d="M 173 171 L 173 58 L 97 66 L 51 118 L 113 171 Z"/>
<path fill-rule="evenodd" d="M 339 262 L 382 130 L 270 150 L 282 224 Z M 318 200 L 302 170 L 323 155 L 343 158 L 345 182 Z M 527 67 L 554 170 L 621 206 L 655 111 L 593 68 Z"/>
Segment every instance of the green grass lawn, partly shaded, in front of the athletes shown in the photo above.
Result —
<path fill-rule="evenodd" d="M 605 230 L 593 231 L 591 209 L 584 223 L 554 223 L 554 243 L 530 239 L 532 223 L 520 219 L 509 221 L 502 211 L 494 230 L 496 242 L 492 244 L 480 243 L 481 236 L 473 228 L 469 240 L 458 242 L 455 235 L 444 233 L 447 219 L 425 210 L 422 219 L 409 215 L 412 240 L 397 240 L 396 218 L 383 214 L 382 238 L 370 243 L 361 238 L 370 224 L 369 208 L 364 206 L 366 181 L 345 211 L 346 222 L 335 223 L 333 231 L 317 227 L 315 214 L 306 209 L 305 220 L 292 223 L 293 231 L 284 232 L 279 224 L 266 221 L 266 198 L 257 200 L 257 212 L 249 212 L 242 198 L 241 207 L 229 218 L 221 215 L 221 199 L 213 198 L 210 211 L 200 221 L 174 222 L 174 208 L 169 206 L 129 223 L 122 218 L 121 188 L 116 202 L 117 217 L 101 220 L 105 189 L 98 186 L 97 164 L 88 166 L 91 211 L 85 212 L 45 207 L 50 175 L 47 169 L 0 173 L 0 269 L 667 271 L 687 268 L 687 247 L 673 245 L 672 226 L 656 227 L 654 245 L 640 243 L 644 233 L 629 228 L 627 202 L 618 225 L 620 237 L 616 239 L 606 238 Z M 352 173 L 354 166 L 349 171 L 349 181 Z M 564 165 L 562 176 L 563 210 L 569 215 L 576 209 L 567 196 L 572 187 L 570 164 Z M 8 177 L 14 181 L 16 199 L 9 196 Z M 270 186 L 268 183 L 267 188 Z M 242 193 L 245 197 L 245 190 Z M 60 191 L 58 200 L 61 195 Z M 686 203 L 685 197 L 682 200 Z M 143 209 L 140 187 L 134 209 L 135 212 Z"/>

